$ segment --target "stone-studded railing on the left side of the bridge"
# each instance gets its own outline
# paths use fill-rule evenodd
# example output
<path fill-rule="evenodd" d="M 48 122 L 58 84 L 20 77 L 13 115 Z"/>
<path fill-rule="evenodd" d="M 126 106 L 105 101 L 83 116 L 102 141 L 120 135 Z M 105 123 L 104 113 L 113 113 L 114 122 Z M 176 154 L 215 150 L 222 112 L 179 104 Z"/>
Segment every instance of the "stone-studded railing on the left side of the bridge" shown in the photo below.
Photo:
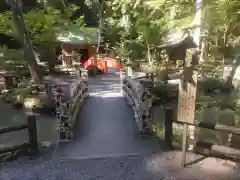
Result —
<path fill-rule="evenodd" d="M 88 97 L 87 81 L 81 78 L 74 83 L 59 83 L 52 87 L 52 92 L 60 140 L 71 140 L 80 107 Z"/>

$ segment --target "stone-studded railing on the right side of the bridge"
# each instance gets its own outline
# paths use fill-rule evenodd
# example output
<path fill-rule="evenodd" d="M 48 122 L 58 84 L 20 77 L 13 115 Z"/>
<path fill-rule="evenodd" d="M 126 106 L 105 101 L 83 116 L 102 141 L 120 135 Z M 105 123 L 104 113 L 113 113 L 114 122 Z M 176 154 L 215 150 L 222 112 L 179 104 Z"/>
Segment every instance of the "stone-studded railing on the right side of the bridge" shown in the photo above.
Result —
<path fill-rule="evenodd" d="M 131 105 L 134 117 L 139 126 L 141 134 L 152 133 L 152 88 L 153 81 L 149 77 L 135 78 L 125 76 L 121 72 L 122 92 Z"/>

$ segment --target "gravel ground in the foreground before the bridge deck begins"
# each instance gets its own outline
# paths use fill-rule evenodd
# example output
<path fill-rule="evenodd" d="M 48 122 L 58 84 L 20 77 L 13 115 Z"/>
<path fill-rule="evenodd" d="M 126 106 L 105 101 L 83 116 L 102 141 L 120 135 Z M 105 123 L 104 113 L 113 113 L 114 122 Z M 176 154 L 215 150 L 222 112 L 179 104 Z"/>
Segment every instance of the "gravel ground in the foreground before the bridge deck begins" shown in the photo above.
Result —
<path fill-rule="evenodd" d="M 197 159 L 188 154 L 189 160 Z M 179 152 L 96 159 L 24 160 L 0 167 L 1 180 L 239 180 L 239 169 L 207 158 L 184 169 Z"/>

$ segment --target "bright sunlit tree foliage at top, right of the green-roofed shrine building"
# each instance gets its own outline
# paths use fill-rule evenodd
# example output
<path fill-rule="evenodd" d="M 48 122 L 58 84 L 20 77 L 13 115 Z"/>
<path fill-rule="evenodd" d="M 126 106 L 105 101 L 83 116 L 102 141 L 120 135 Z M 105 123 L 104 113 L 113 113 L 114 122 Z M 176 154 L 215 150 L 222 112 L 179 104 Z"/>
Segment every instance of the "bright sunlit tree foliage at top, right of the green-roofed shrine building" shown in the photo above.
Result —
<path fill-rule="evenodd" d="M 164 64 L 166 56 L 159 46 L 166 34 L 190 29 L 195 25 L 196 0 L 105 0 L 85 1 L 96 12 L 104 4 L 104 40 L 123 61 Z M 203 0 L 202 41 L 205 63 L 222 64 L 224 55 L 231 55 L 240 43 L 240 1 Z M 216 68 L 212 68 L 216 69 Z"/>

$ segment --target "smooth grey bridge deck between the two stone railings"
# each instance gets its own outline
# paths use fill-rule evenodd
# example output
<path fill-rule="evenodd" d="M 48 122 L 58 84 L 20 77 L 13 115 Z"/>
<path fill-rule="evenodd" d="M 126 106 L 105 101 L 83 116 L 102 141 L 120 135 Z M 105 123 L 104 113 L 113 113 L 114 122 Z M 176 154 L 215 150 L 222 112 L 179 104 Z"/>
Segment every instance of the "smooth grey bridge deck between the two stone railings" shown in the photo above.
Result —
<path fill-rule="evenodd" d="M 81 108 L 70 142 L 59 144 L 57 155 L 89 159 L 151 154 L 157 140 L 139 135 L 138 123 L 123 96 L 120 77 L 103 75 L 88 81 L 89 97 Z"/>

